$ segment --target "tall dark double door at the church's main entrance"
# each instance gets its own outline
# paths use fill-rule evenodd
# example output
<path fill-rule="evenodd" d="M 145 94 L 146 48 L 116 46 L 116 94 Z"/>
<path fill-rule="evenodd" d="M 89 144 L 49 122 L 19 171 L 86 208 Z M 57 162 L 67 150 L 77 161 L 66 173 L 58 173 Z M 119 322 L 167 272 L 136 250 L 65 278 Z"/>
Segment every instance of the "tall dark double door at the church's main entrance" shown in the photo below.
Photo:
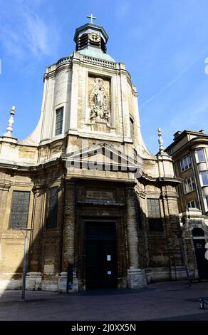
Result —
<path fill-rule="evenodd" d="M 115 222 L 85 223 L 85 287 L 117 287 Z"/>

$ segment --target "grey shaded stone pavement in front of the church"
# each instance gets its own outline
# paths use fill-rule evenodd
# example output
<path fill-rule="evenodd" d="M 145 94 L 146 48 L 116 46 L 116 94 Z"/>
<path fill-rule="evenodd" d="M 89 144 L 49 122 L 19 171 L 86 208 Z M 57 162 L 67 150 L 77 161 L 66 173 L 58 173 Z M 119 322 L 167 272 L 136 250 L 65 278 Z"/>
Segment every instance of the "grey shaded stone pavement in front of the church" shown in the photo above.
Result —
<path fill-rule="evenodd" d="M 20 301 L 20 291 L 6 291 L 0 293 L 0 320 L 208 320 L 208 306 L 199 309 L 199 297 L 208 297 L 208 282 L 73 294 L 27 291 L 26 301 Z"/>

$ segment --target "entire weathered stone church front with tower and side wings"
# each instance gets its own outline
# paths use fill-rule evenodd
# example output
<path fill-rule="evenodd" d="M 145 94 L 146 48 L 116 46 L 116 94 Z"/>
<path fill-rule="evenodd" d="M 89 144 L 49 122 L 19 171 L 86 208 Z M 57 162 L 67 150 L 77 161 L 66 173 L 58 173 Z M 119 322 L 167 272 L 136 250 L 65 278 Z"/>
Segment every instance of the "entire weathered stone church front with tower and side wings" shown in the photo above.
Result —
<path fill-rule="evenodd" d="M 0 287 L 74 292 L 185 278 L 172 159 L 147 150 L 137 91 L 108 35 L 76 29 L 76 51 L 46 68 L 36 129 L 0 138 Z"/>

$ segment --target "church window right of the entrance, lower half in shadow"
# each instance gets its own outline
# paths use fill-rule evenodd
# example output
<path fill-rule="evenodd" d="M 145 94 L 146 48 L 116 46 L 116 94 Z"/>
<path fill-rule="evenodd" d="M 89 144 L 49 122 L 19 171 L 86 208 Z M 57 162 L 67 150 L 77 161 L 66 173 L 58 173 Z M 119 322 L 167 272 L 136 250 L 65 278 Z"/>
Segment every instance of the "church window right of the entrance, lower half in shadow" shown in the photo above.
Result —
<path fill-rule="evenodd" d="M 160 200 L 147 199 L 149 230 L 152 232 L 162 232 L 162 218 L 160 214 Z"/>

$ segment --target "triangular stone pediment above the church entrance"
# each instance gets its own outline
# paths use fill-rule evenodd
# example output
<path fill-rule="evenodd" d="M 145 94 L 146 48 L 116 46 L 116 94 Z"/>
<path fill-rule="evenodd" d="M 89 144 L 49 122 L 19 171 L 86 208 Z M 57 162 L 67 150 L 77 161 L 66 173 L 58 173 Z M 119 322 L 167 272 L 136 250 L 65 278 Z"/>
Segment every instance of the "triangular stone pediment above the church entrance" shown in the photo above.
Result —
<path fill-rule="evenodd" d="M 73 153 L 62 155 L 63 160 L 73 162 L 74 164 L 81 166 L 88 166 L 96 169 L 102 168 L 103 170 L 109 170 L 111 167 L 114 171 L 133 171 L 141 168 L 139 160 L 134 160 L 129 155 L 121 153 L 121 151 L 115 149 L 112 145 L 101 143 L 99 145 L 92 145 L 90 148 L 83 148 Z"/>

